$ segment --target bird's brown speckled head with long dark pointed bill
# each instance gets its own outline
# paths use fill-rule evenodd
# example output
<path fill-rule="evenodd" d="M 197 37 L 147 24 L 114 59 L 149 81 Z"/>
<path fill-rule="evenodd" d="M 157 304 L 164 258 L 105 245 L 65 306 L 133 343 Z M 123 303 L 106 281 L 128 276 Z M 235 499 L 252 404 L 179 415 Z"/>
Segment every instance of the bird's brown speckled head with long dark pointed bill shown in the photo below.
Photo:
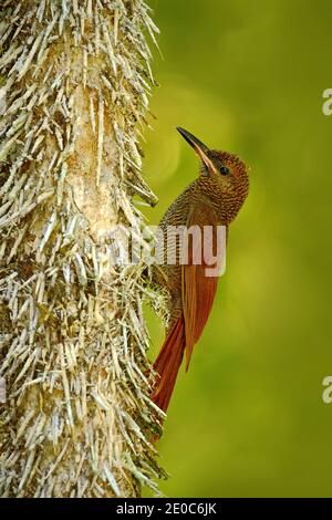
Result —
<path fill-rule="evenodd" d="M 177 131 L 194 148 L 201 162 L 200 178 L 208 196 L 219 201 L 232 220 L 245 202 L 249 190 L 247 165 L 234 154 L 208 148 L 184 128 Z"/>

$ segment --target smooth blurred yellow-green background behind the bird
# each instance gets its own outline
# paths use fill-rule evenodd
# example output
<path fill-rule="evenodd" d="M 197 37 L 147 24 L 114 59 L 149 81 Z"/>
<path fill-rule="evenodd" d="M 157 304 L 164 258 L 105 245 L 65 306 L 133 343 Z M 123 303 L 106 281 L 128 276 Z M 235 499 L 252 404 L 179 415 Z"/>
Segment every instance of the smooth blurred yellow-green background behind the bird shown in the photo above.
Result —
<path fill-rule="evenodd" d="M 169 497 L 332 496 L 330 0 L 151 0 L 154 131 L 145 175 L 157 223 L 197 175 L 180 125 L 250 166 L 227 272 L 169 407 Z M 152 356 L 162 323 L 147 312 Z"/>

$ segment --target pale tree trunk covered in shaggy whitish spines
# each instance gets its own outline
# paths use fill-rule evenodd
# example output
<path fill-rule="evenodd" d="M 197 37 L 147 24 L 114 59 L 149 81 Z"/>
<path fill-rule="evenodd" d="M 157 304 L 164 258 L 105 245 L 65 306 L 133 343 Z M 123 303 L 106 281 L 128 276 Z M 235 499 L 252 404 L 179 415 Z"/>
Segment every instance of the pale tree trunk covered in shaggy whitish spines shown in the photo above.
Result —
<path fill-rule="evenodd" d="M 143 0 L 8 0 L 0 22 L 0 495 L 136 497 L 160 475 L 145 377 Z M 124 256 L 126 240 L 118 241 Z M 3 392 L 2 392 L 3 394 Z"/>

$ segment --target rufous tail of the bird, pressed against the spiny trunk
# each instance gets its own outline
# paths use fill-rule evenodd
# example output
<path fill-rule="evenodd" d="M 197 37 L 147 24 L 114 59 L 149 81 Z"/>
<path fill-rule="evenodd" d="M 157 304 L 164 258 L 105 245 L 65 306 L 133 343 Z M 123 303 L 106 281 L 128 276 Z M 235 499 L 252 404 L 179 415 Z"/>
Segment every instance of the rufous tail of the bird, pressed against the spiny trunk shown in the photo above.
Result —
<path fill-rule="evenodd" d="M 178 370 L 185 351 L 185 324 L 180 316 L 170 329 L 158 357 L 154 363 L 157 373 L 152 401 L 164 412 L 167 410 Z"/>

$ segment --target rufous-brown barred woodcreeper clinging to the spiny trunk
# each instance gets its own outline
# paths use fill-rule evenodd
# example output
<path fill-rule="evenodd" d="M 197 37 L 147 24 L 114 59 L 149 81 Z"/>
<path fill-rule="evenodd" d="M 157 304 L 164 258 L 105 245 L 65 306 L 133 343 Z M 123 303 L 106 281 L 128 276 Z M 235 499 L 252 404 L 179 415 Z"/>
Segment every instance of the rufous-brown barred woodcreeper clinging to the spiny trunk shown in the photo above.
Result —
<path fill-rule="evenodd" d="M 219 275 L 208 275 L 207 268 L 217 266 L 219 259 L 214 260 L 214 256 L 225 254 L 226 247 L 226 241 L 224 251 L 222 247 L 217 247 L 220 239 L 216 230 L 219 226 L 225 226 L 226 236 L 228 235 L 228 227 L 238 215 L 249 189 L 247 166 L 239 157 L 209 149 L 189 132 L 180 127 L 177 129 L 200 159 L 199 176 L 169 206 L 159 228 L 164 237 L 167 237 L 169 229 L 174 229 L 172 227 L 185 226 L 188 229 L 196 226 L 204 230 L 209 226 L 212 229 L 212 247 L 207 254 L 206 251 L 200 251 L 201 262 L 197 262 L 194 259 L 194 248 L 197 245 L 195 246 L 194 240 L 188 240 L 186 245 L 189 250 L 185 263 L 179 260 L 183 258 L 184 251 L 179 249 L 184 247 L 184 242 L 173 241 L 176 251 L 170 252 L 175 253 L 176 262 L 157 266 L 154 271 L 156 284 L 166 289 L 169 309 L 166 340 L 154 363 L 157 375 L 152 394 L 153 402 L 164 412 L 168 407 L 184 353 L 187 370 L 194 345 L 211 311 Z M 164 243 L 168 246 L 169 242 L 164 240 Z M 198 247 L 205 248 L 206 242 L 201 241 Z"/>

